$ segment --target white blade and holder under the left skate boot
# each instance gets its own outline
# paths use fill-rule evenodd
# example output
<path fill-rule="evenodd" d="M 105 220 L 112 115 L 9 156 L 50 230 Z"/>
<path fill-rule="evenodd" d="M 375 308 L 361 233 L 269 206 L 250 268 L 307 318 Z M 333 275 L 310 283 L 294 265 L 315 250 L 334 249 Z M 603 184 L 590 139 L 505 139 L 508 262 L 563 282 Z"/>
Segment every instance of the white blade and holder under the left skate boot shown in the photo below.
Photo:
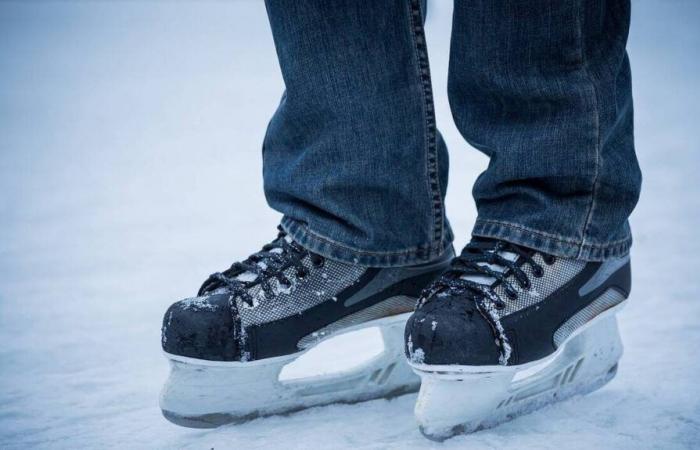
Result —
<path fill-rule="evenodd" d="M 214 428 L 258 417 L 288 414 L 332 403 L 357 403 L 416 392 L 420 378 L 403 355 L 409 314 L 348 328 L 381 331 L 382 353 L 349 370 L 280 380 L 282 369 L 308 350 L 251 362 L 218 362 L 166 354 L 170 375 L 160 407 L 169 421 L 190 428 Z M 332 338 L 332 337 L 331 337 Z"/>

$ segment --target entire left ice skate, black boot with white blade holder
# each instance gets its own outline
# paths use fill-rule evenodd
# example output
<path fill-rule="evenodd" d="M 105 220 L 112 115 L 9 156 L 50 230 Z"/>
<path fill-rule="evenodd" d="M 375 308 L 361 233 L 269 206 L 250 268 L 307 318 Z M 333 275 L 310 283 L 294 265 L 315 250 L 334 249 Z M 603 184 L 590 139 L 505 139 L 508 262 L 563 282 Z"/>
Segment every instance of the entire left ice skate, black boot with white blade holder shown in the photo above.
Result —
<path fill-rule="evenodd" d="M 403 332 L 420 292 L 448 267 L 441 260 L 368 268 L 321 257 L 280 230 L 278 237 L 222 273 L 163 319 L 170 375 L 163 415 L 209 428 L 336 402 L 418 390 Z M 384 352 L 348 371 L 280 380 L 287 364 L 324 339 L 377 327 Z"/>

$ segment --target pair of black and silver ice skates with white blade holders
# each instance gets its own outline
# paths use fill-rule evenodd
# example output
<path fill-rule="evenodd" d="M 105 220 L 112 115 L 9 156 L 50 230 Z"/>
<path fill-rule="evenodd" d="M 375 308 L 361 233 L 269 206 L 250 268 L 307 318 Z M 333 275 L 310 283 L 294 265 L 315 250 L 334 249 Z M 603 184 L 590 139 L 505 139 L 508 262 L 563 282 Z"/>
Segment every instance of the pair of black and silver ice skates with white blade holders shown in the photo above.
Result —
<path fill-rule="evenodd" d="M 622 355 L 615 313 L 629 290 L 629 258 L 584 262 L 475 239 L 458 257 L 367 268 L 280 231 L 166 312 L 161 409 L 176 424 L 215 427 L 420 387 L 419 427 L 442 440 L 612 379 Z M 319 342 L 366 327 L 381 330 L 380 355 L 280 379 Z"/>

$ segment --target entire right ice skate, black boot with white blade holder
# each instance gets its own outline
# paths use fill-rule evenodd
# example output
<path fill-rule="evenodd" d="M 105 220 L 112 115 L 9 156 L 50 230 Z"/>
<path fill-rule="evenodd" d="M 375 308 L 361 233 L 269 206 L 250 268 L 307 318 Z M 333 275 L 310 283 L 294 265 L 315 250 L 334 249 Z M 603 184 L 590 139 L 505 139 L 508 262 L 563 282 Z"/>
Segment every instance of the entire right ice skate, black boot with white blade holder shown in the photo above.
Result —
<path fill-rule="evenodd" d="M 443 440 L 603 386 L 629 292 L 628 256 L 585 262 L 475 238 L 406 325 L 421 432 Z"/>

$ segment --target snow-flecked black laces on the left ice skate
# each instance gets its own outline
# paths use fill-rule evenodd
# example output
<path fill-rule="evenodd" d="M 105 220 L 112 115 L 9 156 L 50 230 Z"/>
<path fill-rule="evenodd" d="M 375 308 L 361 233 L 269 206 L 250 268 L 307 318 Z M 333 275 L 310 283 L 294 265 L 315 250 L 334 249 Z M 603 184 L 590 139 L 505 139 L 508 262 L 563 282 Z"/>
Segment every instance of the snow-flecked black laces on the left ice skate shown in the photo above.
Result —
<path fill-rule="evenodd" d="M 272 280 L 277 280 L 283 289 L 291 288 L 292 281 L 285 274 L 288 268 L 296 269 L 294 275 L 297 279 L 303 279 L 309 274 L 309 269 L 302 262 L 307 255 L 314 267 L 324 264 L 324 257 L 294 242 L 281 227 L 278 226 L 277 230 L 277 238 L 265 244 L 259 252 L 253 253 L 245 261 L 233 263 L 223 272 L 209 275 L 197 295 L 202 296 L 219 288 L 226 288 L 248 306 L 254 306 L 254 300 L 249 293 L 253 286 L 259 284 L 265 297 L 270 298 L 275 295 Z M 248 275 L 249 279 L 246 279 L 245 275 Z"/>

